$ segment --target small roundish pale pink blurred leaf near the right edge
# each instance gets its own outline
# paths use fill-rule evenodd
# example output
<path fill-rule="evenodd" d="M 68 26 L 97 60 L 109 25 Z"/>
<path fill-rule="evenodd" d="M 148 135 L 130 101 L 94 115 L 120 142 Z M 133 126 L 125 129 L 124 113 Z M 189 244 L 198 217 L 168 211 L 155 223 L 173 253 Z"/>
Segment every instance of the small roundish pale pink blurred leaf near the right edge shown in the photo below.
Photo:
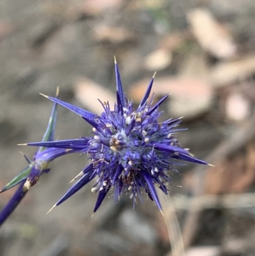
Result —
<path fill-rule="evenodd" d="M 234 121 L 243 121 L 250 113 L 250 102 L 240 93 L 231 93 L 226 98 L 226 116 Z"/>

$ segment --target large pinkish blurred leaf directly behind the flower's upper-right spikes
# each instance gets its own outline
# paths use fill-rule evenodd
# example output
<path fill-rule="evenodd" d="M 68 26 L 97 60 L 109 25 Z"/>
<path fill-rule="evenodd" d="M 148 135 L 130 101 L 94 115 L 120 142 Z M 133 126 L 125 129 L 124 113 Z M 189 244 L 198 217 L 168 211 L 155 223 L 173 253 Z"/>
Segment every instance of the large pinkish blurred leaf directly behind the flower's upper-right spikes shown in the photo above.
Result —
<path fill-rule="evenodd" d="M 139 102 L 148 84 L 149 79 L 137 82 L 129 90 L 129 96 Z M 155 80 L 152 91 L 156 97 L 171 93 L 168 106 L 171 116 L 186 119 L 206 112 L 213 98 L 212 88 L 203 79 L 161 77 Z"/>

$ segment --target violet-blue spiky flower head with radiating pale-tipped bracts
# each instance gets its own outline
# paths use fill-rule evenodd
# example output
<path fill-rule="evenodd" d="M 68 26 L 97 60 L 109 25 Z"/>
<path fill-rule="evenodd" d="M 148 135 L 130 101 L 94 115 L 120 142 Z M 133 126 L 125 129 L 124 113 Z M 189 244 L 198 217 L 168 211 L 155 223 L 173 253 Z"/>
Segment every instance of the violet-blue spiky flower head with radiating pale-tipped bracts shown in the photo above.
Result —
<path fill-rule="evenodd" d="M 162 211 L 155 187 L 159 187 L 163 193 L 168 194 L 167 184 L 171 181 L 171 172 L 175 170 L 175 165 L 178 162 L 176 160 L 207 164 L 194 158 L 187 149 L 179 146 L 176 133 L 180 129 L 176 127 L 181 121 L 180 118 L 168 119 L 159 123 L 158 119 L 162 114 L 159 111 L 159 106 L 168 98 L 168 95 L 155 105 L 152 104 L 149 95 L 154 77 L 152 77 L 140 105 L 135 109 L 133 102 L 126 98 L 122 89 L 116 61 L 115 75 L 117 103 L 111 110 L 108 102 L 101 102 L 103 112 L 99 116 L 46 96 L 53 102 L 82 116 L 92 126 L 91 137 L 28 144 L 68 149 L 79 148 L 89 154 L 89 165 L 75 177 L 75 179 L 79 178 L 77 183 L 55 206 L 64 202 L 96 177 L 96 184 L 92 188 L 92 192 L 98 193 L 94 212 L 110 190 L 113 190 L 116 202 L 122 195 L 129 193 L 134 204 L 137 198 L 142 200 L 142 193 L 145 192 Z"/>

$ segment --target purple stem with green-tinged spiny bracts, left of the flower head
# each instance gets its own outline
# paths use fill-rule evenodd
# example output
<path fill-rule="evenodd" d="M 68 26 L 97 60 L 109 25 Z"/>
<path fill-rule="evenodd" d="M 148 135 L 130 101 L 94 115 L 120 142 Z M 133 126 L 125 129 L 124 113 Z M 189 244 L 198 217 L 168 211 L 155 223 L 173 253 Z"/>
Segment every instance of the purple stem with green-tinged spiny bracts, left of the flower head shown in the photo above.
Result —
<path fill-rule="evenodd" d="M 57 89 L 56 97 L 58 97 L 59 90 Z M 50 120 L 48 121 L 47 130 L 43 136 L 42 141 L 54 140 L 55 122 L 57 118 L 57 103 L 54 103 Z M 69 153 L 76 153 L 77 149 L 65 149 L 54 147 L 39 147 L 38 151 L 34 154 L 33 160 L 29 160 L 25 155 L 25 159 L 29 165 L 13 178 L 0 192 L 9 190 L 13 186 L 20 184 L 13 197 L 6 204 L 6 206 L 0 211 L 0 225 L 2 225 L 8 216 L 15 210 L 20 201 L 25 197 L 26 193 L 30 190 L 34 184 L 38 182 L 41 174 L 50 171 L 50 163 L 57 157 L 63 156 Z"/>

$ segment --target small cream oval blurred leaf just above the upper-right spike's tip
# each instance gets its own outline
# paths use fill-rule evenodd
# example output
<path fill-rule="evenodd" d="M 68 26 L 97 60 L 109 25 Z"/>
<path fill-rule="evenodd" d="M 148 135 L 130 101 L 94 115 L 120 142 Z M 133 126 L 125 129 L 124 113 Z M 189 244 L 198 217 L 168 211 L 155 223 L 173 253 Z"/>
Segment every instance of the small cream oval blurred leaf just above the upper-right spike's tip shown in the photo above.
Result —
<path fill-rule="evenodd" d="M 169 50 L 158 49 L 145 58 L 145 68 L 149 71 L 164 70 L 171 64 L 172 55 Z"/>

